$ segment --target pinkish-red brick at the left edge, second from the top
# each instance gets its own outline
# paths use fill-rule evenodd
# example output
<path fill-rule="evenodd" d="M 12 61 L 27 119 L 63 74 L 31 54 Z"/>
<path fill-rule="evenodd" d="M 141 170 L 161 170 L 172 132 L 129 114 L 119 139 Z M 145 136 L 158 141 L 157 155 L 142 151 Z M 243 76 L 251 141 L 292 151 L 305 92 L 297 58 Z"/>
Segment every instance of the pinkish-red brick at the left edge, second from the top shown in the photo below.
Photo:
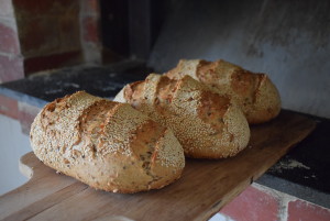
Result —
<path fill-rule="evenodd" d="M 18 33 L 10 26 L 1 23 L 0 21 L 0 52 L 19 54 L 20 46 L 18 40 Z"/>

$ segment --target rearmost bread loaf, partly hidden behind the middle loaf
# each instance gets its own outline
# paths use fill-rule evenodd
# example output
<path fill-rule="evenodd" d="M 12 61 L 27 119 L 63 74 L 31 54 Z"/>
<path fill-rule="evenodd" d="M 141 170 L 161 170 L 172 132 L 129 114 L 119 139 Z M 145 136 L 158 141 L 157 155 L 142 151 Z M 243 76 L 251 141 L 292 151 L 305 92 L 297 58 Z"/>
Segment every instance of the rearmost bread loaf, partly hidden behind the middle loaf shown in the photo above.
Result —
<path fill-rule="evenodd" d="M 255 74 L 226 60 L 182 59 L 166 76 L 179 79 L 189 75 L 220 93 L 237 100 L 250 124 L 263 123 L 280 111 L 279 93 L 265 74 Z"/>

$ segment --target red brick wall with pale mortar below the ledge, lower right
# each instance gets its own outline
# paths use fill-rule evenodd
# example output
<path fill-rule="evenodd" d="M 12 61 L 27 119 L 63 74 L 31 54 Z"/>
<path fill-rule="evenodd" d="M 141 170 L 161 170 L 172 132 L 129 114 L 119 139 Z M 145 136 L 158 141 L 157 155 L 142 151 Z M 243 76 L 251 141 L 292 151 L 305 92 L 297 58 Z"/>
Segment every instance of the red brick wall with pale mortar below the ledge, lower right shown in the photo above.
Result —
<path fill-rule="evenodd" d="M 218 217 L 233 221 L 329 221 L 330 209 L 253 184 Z"/>

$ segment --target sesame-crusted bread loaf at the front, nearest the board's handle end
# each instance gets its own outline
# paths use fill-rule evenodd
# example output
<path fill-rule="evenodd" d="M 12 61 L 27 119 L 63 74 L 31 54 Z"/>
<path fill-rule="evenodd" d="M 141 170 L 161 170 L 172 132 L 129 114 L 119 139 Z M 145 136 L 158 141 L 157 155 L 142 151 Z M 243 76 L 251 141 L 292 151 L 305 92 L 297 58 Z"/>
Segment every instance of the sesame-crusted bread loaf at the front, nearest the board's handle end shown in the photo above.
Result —
<path fill-rule="evenodd" d="M 162 188 L 185 165 L 170 129 L 84 91 L 46 104 L 32 123 L 31 144 L 45 165 L 113 192 Z"/>

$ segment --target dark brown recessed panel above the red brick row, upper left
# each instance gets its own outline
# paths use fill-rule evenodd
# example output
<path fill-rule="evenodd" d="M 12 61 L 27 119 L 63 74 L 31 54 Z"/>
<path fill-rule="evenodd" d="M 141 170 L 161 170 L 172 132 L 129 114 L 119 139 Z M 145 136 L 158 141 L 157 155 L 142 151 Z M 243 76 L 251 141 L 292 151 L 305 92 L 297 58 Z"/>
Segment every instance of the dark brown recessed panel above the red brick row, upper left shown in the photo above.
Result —
<path fill-rule="evenodd" d="M 38 4 L 40 3 L 40 4 Z M 37 5 L 36 5 L 37 4 Z M 80 47 L 78 1 L 14 1 L 21 51 L 25 57 Z"/>

